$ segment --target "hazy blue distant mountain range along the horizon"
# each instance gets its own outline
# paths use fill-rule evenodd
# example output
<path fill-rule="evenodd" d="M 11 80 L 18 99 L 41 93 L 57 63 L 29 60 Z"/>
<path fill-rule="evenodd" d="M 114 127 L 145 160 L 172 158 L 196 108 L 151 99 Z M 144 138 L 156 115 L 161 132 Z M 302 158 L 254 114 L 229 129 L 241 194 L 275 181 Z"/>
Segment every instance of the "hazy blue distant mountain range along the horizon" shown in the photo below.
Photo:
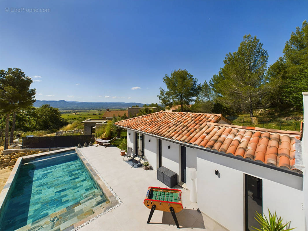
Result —
<path fill-rule="evenodd" d="M 133 105 L 142 107 L 144 103 L 125 103 L 125 102 L 78 102 L 65 100 L 36 100 L 34 107 L 40 107 L 43 104 L 49 104 L 51 107 L 59 109 L 108 109 L 108 108 L 128 108 Z"/>

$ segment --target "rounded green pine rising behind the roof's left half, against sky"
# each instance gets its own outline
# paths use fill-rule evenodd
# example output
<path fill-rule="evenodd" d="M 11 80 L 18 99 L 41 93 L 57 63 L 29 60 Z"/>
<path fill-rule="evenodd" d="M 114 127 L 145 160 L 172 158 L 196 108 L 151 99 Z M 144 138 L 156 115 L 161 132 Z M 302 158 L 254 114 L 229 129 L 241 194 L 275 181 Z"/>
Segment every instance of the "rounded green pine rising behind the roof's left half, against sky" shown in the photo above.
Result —
<path fill-rule="evenodd" d="M 193 102 L 194 97 L 197 97 L 200 91 L 198 80 L 193 78 L 187 70 L 174 70 L 170 77 L 165 75 L 163 82 L 167 90 L 160 87 L 160 95 L 157 95 L 160 103 L 168 107 L 180 104 L 181 111 L 183 111 L 183 105 Z"/>

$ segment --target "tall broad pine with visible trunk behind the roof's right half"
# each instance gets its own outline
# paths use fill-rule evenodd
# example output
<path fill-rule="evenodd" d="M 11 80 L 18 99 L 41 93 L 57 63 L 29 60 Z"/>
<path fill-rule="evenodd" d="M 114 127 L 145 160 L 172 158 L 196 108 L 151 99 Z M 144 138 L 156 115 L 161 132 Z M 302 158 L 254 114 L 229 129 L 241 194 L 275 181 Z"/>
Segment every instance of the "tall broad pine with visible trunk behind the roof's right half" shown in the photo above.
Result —
<path fill-rule="evenodd" d="M 268 54 L 262 45 L 256 36 L 245 35 L 238 50 L 226 54 L 225 66 L 210 81 L 218 102 L 249 111 L 250 117 L 271 87 L 266 84 Z"/>

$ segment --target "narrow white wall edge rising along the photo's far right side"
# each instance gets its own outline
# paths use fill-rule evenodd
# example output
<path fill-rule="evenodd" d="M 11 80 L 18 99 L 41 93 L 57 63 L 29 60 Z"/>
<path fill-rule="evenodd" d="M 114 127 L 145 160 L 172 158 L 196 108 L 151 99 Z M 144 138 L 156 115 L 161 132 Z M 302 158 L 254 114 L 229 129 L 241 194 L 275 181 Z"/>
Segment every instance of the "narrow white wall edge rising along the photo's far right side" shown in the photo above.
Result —
<path fill-rule="evenodd" d="M 305 230 L 308 230 L 308 92 L 302 92 L 304 101 L 304 126 L 302 135 L 302 161 L 303 161 L 303 195 L 305 211 Z"/>

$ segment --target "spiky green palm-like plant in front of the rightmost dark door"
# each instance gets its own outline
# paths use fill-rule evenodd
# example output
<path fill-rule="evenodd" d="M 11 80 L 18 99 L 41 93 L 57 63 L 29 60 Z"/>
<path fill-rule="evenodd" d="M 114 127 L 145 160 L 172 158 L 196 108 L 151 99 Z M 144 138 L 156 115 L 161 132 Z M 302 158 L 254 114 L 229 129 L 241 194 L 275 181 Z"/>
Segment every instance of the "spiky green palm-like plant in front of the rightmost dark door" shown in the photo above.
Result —
<path fill-rule="evenodd" d="M 256 211 L 255 213 L 256 217 L 254 219 L 256 219 L 257 222 L 260 224 L 260 228 L 258 229 L 256 227 L 252 227 L 253 229 L 255 229 L 254 231 L 289 231 L 295 229 L 295 228 L 288 229 L 288 225 L 290 224 L 291 221 L 287 222 L 286 224 L 283 224 L 282 218 L 277 217 L 276 211 L 274 215 L 270 213 L 270 209 L 268 209 L 268 211 L 269 211 L 269 219 L 265 217 L 265 214 L 263 217 L 261 213 L 258 213 Z"/>

